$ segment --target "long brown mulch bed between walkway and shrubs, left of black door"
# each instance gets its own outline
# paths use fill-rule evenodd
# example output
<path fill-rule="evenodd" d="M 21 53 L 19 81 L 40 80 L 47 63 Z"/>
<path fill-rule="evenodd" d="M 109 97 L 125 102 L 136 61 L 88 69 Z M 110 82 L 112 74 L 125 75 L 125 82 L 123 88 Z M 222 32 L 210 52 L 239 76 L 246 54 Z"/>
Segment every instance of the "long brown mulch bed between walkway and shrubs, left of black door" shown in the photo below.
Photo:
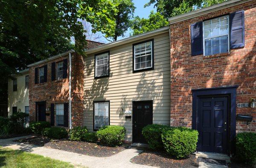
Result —
<path fill-rule="evenodd" d="M 73 142 L 69 141 L 68 139 L 55 140 L 49 139 L 44 136 L 34 136 L 31 138 L 19 139 L 15 142 L 28 143 L 32 145 L 44 146 L 46 148 L 55 148 L 63 151 L 69 151 L 96 157 L 112 156 L 125 150 L 125 148 L 128 148 L 128 145 L 123 145 L 120 147 L 108 147 L 100 145 L 99 142 Z"/>

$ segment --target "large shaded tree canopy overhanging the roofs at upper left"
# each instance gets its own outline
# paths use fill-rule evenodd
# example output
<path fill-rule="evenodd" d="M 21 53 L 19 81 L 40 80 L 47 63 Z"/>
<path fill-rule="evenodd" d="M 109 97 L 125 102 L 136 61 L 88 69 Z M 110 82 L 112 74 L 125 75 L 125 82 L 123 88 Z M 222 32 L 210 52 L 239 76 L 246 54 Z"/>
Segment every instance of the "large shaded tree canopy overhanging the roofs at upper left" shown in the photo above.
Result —
<path fill-rule="evenodd" d="M 81 20 L 90 22 L 93 32 L 113 35 L 116 13 L 113 0 L 0 0 L 0 95 L 7 98 L 7 79 L 27 64 L 74 47 L 82 53 Z"/>

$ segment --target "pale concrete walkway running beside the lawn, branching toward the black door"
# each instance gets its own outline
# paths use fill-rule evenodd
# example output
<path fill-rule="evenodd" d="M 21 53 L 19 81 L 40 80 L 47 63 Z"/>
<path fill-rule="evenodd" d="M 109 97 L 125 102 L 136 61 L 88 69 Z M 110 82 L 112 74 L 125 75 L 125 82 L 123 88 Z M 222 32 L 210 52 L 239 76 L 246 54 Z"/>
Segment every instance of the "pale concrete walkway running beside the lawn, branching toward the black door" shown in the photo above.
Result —
<path fill-rule="evenodd" d="M 62 151 L 58 149 L 51 149 L 45 147 L 38 147 L 35 145 L 29 145 L 19 142 L 13 142 L 13 140 L 26 138 L 29 136 L 16 137 L 12 139 L 0 139 L 0 146 L 5 148 L 11 148 L 14 150 L 22 150 L 30 152 L 32 154 L 39 154 L 50 157 L 52 159 L 58 159 L 66 162 L 70 162 L 74 165 L 86 166 L 89 168 L 153 168 L 151 166 L 137 165 L 130 162 L 130 159 L 137 156 L 142 151 L 137 149 L 126 149 L 118 154 L 110 157 L 94 157 L 82 154 L 76 154 L 73 152 Z"/>

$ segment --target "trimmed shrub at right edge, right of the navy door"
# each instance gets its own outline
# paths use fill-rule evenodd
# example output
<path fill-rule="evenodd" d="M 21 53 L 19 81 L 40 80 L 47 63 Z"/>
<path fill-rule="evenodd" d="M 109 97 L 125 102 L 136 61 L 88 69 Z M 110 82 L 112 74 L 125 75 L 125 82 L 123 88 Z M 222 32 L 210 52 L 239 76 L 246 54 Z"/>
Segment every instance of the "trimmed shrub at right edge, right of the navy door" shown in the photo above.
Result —
<path fill-rule="evenodd" d="M 256 162 L 256 133 L 236 135 L 236 158 L 249 164 Z"/>

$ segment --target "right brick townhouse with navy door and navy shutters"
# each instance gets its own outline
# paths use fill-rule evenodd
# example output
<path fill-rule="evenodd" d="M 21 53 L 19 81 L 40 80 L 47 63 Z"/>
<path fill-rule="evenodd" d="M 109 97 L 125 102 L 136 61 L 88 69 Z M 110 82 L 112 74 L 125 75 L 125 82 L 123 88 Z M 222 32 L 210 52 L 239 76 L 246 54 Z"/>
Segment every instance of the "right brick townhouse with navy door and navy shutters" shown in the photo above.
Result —
<path fill-rule="evenodd" d="M 256 97 L 256 1 L 230 0 L 169 23 L 171 125 L 198 130 L 198 151 L 230 154 L 236 132 L 256 132 L 248 107 Z"/>

